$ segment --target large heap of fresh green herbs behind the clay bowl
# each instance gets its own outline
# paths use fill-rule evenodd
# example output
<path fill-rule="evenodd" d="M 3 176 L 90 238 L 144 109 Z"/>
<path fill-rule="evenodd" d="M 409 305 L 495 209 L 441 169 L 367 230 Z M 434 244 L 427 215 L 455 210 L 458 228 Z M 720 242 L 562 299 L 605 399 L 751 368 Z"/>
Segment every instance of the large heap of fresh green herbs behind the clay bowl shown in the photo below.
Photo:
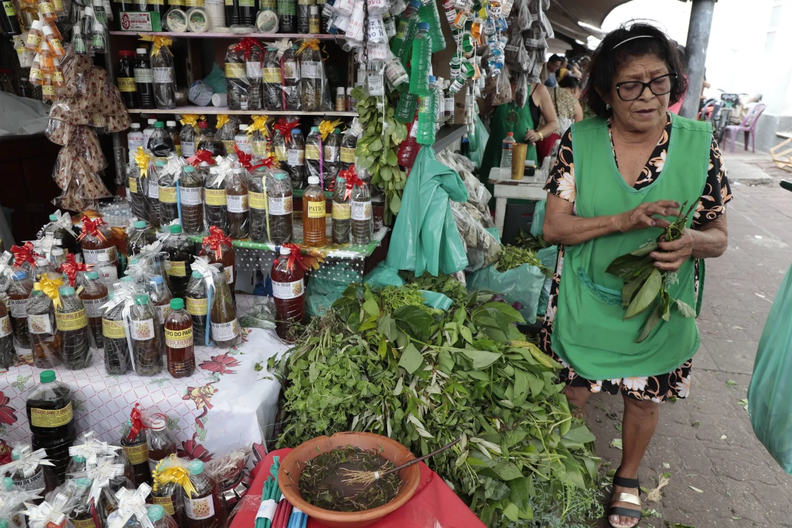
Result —
<path fill-rule="evenodd" d="M 284 381 L 277 445 L 370 431 L 420 456 L 461 436 L 429 465 L 487 526 L 584 526 L 602 514 L 594 436 L 569 412 L 560 365 L 516 330 L 522 321 L 491 294 L 442 312 L 349 285 L 270 359 Z"/>

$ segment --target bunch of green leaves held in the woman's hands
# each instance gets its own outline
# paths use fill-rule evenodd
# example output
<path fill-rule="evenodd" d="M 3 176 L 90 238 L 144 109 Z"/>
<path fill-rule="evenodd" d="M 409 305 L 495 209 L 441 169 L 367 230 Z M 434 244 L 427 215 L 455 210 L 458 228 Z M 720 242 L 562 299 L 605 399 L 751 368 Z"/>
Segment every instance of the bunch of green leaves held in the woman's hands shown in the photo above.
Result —
<path fill-rule="evenodd" d="M 650 308 L 652 310 L 636 342 L 646 339 L 661 319 L 664 321 L 671 319 L 672 305 L 676 305 L 683 316 L 695 317 L 695 310 L 689 304 L 680 299 L 673 299 L 668 294 L 667 286 L 678 280 L 676 272 L 658 270 L 654 266 L 654 259 L 649 256 L 663 240 L 671 242 L 680 239 L 687 225 L 687 219 L 696 204 L 691 205 L 683 214 L 685 205 L 687 201 L 680 207 L 676 220 L 669 224 L 656 240 L 650 240 L 635 251 L 615 258 L 605 270 L 624 281 L 622 306 L 626 309 L 625 320 L 638 316 Z"/>

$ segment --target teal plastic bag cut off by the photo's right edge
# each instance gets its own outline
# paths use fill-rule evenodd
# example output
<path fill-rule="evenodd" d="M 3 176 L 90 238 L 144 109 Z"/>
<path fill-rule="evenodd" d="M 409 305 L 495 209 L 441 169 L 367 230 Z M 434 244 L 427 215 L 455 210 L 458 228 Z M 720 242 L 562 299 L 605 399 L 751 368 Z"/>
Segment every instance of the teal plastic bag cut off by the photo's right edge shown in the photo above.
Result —
<path fill-rule="evenodd" d="M 756 438 L 792 475 L 792 267 L 764 323 L 748 387 L 748 415 Z"/>

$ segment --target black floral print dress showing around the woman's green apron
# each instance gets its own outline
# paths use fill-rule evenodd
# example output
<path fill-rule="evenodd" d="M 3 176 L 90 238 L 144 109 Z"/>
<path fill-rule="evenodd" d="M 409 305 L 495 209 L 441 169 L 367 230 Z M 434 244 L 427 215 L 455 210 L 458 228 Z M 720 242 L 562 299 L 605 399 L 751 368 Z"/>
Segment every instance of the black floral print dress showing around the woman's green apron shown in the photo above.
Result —
<path fill-rule="evenodd" d="M 644 166 L 641 175 L 638 177 L 638 181 L 635 182 L 635 189 L 642 189 L 651 182 L 657 180 L 657 178 L 661 178 L 665 158 L 668 153 L 668 141 L 672 132 L 670 113 L 668 113 L 667 119 L 668 122 L 660 140 L 657 142 L 657 147 L 654 148 L 652 156 Z M 608 123 L 608 136 L 611 136 L 610 122 Z M 611 147 L 612 146 L 613 137 L 611 136 Z M 613 155 L 615 158 L 615 148 L 613 150 Z M 545 190 L 548 193 L 553 193 L 566 201 L 574 203 L 576 193 L 574 165 L 572 132 L 571 130 L 567 130 L 558 147 L 558 159 L 556 159 L 555 165 L 550 170 Z M 718 143 L 713 138 L 712 147 L 710 148 L 710 168 L 707 171 L 706 184 L 701 199 L 699 200 L 699 207 L 694 213 L 693 228 L 700 229 L 707 223 L 718 218 L 718 216 L 721 216 L 726 210 L 725 205 L 731 200 L 732 193 L 729 187 L 729 181 L 725 176 L 721 151 L 718 148 Z M 635 400 L 652 400 L 657 403 L 661 403 L 670 397 L 686 398 L 690 392 L 692 358 L 684 362 L 679 369 L 658 376 L 625 377 L 612 380 L 588 380 L 578 376 L 571 365 L 564 362 L 562 358 L 559 358 L 558 355 L 555 354 L 550 344 L 550 337 L 553 333 L 553 318 L 555 316 L 556 307 L 558 306 L 558 287 L 561 285 L 563 266 L 564 247 L 559 245 L 558 264 L 556 265 L 553 281 L 550 284 L 550 300 L 548 300 L 545 321 L 539 333 L 540 348 L 542 348 L 545 354 L 552 356 L 563 365 L 560 381 L 567 385 L 572 385 L 573 387 L 586 387 L 591 392 L 608 392 L 610 394 L 622 392 L 624 395 L 634 398 Z M 696 266 L 695 289 L 698 293 L 698 265 Z"/>

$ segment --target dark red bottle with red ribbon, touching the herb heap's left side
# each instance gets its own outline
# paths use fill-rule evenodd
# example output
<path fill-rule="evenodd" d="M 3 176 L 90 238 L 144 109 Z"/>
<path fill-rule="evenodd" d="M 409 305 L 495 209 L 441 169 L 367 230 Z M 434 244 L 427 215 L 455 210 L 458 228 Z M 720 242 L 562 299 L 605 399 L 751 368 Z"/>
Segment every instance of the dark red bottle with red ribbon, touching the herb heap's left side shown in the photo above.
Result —
<path fill-rule="evenodd" d="M 272 297 L 275 297 L 276 331 L 280 339 L 293 339 L 290 336 L 295 323 L 303 323 L 305 318 L 305 271 L 302 266 L 292 262 L 289 266 L 291 249 L 280 248 L 280 257 L 272 262 L 269 277 L 272 279 Z"/>

